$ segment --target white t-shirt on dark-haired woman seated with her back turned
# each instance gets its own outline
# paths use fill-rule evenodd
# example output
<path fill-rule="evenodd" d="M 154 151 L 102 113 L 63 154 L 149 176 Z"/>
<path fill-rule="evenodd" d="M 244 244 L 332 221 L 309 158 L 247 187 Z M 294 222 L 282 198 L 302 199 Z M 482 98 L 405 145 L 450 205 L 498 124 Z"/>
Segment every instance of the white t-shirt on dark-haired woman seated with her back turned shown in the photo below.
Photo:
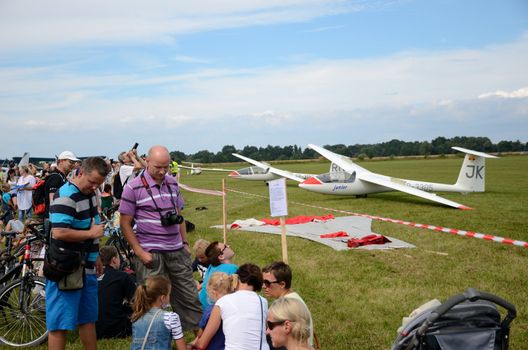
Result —
<path fill-rule="evenodd" d="M 255 292 L 239 290 L 221 297 L 215 305 L 220 308 L 222 316 L 225 350 L 269 350 L 265 334 L 266 299 Z"/>

